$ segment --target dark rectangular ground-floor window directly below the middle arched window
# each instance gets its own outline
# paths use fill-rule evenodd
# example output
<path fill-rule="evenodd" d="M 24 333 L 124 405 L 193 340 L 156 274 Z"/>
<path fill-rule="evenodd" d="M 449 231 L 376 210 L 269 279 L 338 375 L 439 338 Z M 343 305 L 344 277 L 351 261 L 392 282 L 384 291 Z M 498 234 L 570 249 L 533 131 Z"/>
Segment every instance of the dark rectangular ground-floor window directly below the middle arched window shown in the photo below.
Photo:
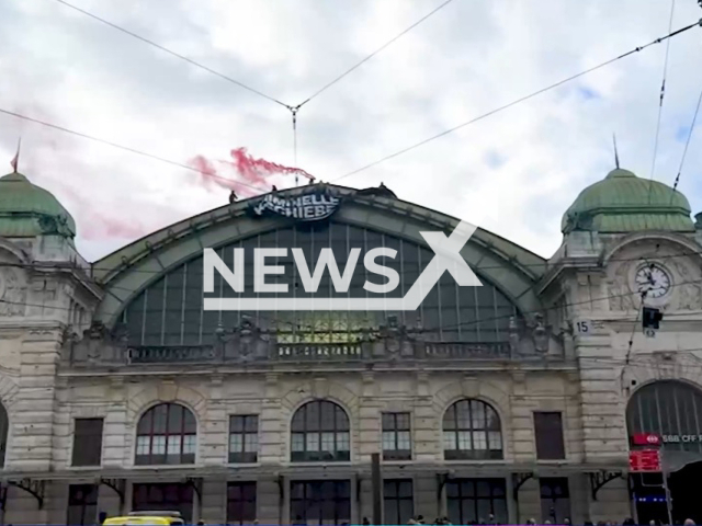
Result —
<path fill-rule="evenodd" d="M 294 525 L 349 524 L 351 483 L 348 480 L 291 481 L 290 519 Z"/>

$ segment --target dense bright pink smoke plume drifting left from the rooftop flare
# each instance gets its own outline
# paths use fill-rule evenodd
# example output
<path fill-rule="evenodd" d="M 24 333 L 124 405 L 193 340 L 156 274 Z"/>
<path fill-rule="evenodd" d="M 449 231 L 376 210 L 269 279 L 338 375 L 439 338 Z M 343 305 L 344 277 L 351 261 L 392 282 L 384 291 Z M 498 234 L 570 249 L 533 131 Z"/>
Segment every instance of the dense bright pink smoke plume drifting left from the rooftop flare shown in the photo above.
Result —
<path fill-rule="evenodd" d="M 270 180 L 274 175 L 302 175 L 303 178 L 314 181 L 310 175 L 301 168 L 285 167 L 276 162 L 267 161 L 265 159 L 254 159 L 248 153 L 246 148 L 235 148 L 229 155 L 230 161 L 211 161 L 203 156 L 196 156 L 190 160 L 189 164 L 197 170 L 202 175 L 202 181 L 208 190 L 213 185 L 234 190 L 237 195 L 242 197 L 252 197 L 260 193 L 269 192 Z M 222 165 L 218 170 L 215 163 Z M 234 170 L 234 175 L 238 175 L 241 180 L 227 176 Z"/>

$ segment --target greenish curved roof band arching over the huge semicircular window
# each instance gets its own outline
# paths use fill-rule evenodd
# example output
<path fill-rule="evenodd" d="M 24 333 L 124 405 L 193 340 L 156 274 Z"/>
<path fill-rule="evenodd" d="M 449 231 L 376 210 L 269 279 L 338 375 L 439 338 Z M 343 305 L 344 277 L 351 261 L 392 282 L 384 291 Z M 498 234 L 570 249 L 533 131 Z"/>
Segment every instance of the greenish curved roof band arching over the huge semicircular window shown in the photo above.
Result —
<path fill-rule="evenodd" d="M 427 208 L 380 196 L 358 195 L 354 190 L 333 187 L 343 205 L 335 220 L 427 247 L 421 231 L 451 233 L 458 220 Z M 294 196 L 305 188 L 281 192 Z M 251 218 L 250 202 L 239 202 L 195 216 L 155 232 L 94 264 L 94 275 L 106 295 L 97 319 L 114 325 L 124 307 L 141 290 L 204 248 L 219 248 L 280 228 L 283 221 Z M 428 247 L 427 247 L 428 248 Z M 495 284 L 520 311 L 541 308 L 533 284 L 545 268 L 540 256 L 485 230 L 476 230 L 462 251 L 468 265 L 482 278 Z"/>

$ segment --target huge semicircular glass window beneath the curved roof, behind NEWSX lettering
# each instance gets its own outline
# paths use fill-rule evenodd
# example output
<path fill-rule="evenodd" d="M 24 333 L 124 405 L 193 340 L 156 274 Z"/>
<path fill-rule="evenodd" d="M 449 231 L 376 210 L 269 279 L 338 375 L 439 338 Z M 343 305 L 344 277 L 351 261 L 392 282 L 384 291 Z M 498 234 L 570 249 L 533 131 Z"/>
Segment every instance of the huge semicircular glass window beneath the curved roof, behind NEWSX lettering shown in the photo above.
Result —
<path fill-rule="evenodd" d="M 234 233 L 234 232 L 233 232 Z M 356 311 L 331 312 L 288 311 L 214 311 L 202 310 L 203 297 L 254 298 L 254 250 L 259 248 L 301 249 L 308 267 L 319 267 L 321 248 L 330 248 L 340 272 L 347 272 L 350 249 L 359 249 L 359 264 L 352 270 L 353 277 L 348 290 L 336 291 L 331 274 L 321 273 L 316 293 L 305 291 L 301 271 L 294 262 L 293 252 L 276 258 L 276 265 L 284 273 L 269 279 L 286 291 L 276 293 L 276 298 L 366 298 L 363 288 L 366 277 L 374 283 L 384 283 L 383 277 L 367 276 L 363 265 L 365 254 L 377 248 L 397 251 L 396 258 L 385 258 L 383 265 L 394 268 L 400 283 L 387 297 L 401 297 L 417 282 L 434 253 L 429 248 L 400 237 L 390 236 L 372 228 L 361 228 L 343 222 L 314 221 L 281 225 L 246 239 L 236 240 L 217 249 L 225 264 L 234 266 L 234 249 L 242 250 L 245 290 L 241 295 L 214 273 L 214 293 L 203 291 L 203 256 L 199 253 L 182 265 L 169 270 L 163 276 L 140 290 L 121 315 L 125 323 L 129 344 L 135 346 L 203 345 L 215 342 L 218 327 L 239 327 L 242 316 L 249 316 L 261 329 L 275 332 L 283 353 L 299 352 L 304 355 L 308 345 L 353 344 L 367 338 L 378 325 L 387 323 L 387 316 L 396 316 L 406 327 L 421 325 L 426 334 L 435 342 L 506 344 L 509 340 L 509 322 L 519 316 L 517 306 L 499 287 L 484 276 L 482 287 L 461 287 L 450 273 L 443 273 L 429 290 L 416 311 Z M 265 294 L 260 297 L 265 297 Z M 508 348 L 506 346 L 499 348 Z M 506 351 L 505 351 L 506 352 Z"/>

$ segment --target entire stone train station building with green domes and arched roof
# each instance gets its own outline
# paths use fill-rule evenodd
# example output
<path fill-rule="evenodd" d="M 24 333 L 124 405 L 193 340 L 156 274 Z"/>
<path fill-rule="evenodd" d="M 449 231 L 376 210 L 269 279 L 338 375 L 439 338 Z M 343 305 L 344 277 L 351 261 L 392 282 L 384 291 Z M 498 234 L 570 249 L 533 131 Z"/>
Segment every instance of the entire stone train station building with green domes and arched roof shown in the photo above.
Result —
<path fill-rule="evenodd" d="M 613 170 L 547 260 L 478 228 L 482 286 L 443 272 L 393 310 L 458 219 L 383 185 L 230 203 L 89 263 L 31 179 L 0 179 L 2 524 L 353 524 L 375 495 L 385 524 L 702 521 L 702 221 L 665 184 Z M 206 249 L 231 279 L 206 286 Z M 262 249 L 286 249 L 270 293 Z M 307 275 L 324 249 L 339 275 Z"/>

